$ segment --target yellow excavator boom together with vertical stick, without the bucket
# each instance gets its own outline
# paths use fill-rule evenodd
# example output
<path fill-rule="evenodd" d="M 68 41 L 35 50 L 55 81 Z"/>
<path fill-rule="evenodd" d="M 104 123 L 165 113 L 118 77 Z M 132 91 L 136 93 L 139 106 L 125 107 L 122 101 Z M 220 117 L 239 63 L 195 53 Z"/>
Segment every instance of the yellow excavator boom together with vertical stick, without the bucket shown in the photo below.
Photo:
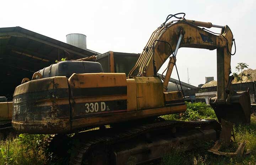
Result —
<path fill-rule="evenodd" d="M 230 71 L 230 58 L 233 34 L 226 25 L 220 35 L 214 35 L 203 28 L 186 21 L 162 25 L 151 35 L 151 38 L 138 59 L 129 76 L 154 76 L 161 68 L 167 58 L 170 57 L 177 47 L 178 39 L 181 41 L 178 46 L 200 49 L 217 49 L 217 75 L 218 75 L 218 101 L 225 101 L 227 97 L 225 89 L 228 87 Z M 165 42 L 163 42 L 165 41 Z M 167 44 L 168 42 L 170 44 Z M 154 45 L 154 46 L 153 46 Z M 154 47 L 154 53 L 153 53 Z M 154 54 L 154 56 L 153 56 Z M 176 55 L 175 55 L 176 56 Z M 171 57 L 172 59 L 173 57 Z M 171 60 L 173 62 L 174 60 Z M 154 63 L 154 64 L 153 64 Z M 173 65 L 172 65 L 173 67 Z M 169 65 L 169 68 L 170 65 Z M 168 80 L 169 77 L 166 77 Z"/>

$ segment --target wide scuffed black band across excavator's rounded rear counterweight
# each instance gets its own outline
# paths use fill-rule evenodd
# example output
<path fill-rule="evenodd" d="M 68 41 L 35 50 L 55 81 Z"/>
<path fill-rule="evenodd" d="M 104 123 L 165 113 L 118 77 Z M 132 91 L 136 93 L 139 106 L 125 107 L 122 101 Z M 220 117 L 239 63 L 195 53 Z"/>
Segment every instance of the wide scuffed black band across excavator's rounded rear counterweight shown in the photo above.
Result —
<path fill-rule="evenodd" d="M 46 91 L 26 92 L 13 97 L 12 119 L 14 121 L 36 122 L 54 116 L 56 119 L 68 119 L 70 108 L 68 104 L 57 105 L 56 99 L 69 99 L 67 88 Z M 49 101 L 52 105 L 38 106 Z"/>

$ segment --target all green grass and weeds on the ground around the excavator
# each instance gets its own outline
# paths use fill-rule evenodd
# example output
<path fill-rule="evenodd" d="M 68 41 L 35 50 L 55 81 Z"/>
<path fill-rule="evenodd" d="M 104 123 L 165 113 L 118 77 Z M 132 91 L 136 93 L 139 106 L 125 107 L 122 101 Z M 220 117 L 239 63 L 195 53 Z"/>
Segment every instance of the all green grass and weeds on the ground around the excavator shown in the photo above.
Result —
<path fill-rule="evenodd" d="M 162 116 L 166 120 L 216 119 L 213 109 L 204 103 L 187 103 L 187 111 L 181 114 Z M 160 165 L 256 165 L 256 116 L 251 124 L 236 126 L 237 142 L 246 141 L 246 149 L 252 151 L 241 158 L 218 156 L 207 152 L 214 142 L 202 142 L 199 149 L 183 152 L 178 146 L 166 153 Z M 0 141 L 0 165 L 48 165 L 59 164 L 48 152 L 49 135 L 20 134 Z M 229 151 L 237 147 L 225 148 Z M 132 160 L 131 160 L 132 161 Z"/>

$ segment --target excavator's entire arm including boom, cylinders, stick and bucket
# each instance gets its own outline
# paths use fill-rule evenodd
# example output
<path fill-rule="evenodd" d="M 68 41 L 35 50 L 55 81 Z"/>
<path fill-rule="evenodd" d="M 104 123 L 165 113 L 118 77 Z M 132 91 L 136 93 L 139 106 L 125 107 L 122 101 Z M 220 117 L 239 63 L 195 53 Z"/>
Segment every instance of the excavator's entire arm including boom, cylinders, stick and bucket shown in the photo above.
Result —
<path fill-rule="evenodd" d="M 219 34 L 213 33 L 198 26 L 218 27 L 221 28 L 221 32 Z M 250 123 L 249 93 L 242 92 L 239 94 L 231 90 L 230 84 L 233 77 L 230 76 L 230 59 L 233 40 L 233 34 L 228 25 L 212 25 L 209 22 L 192 21 L 185 18 L 175 23 L 172 21 L 162 24 L 151 35 L 129 76 L 156 76 L 160 67 L 172 55 L 166 68 L 167 72 L 163 83 L 163 90 L 167 91 L 178 48 L 216 49 L 217 97 L 211 99 L 211 105 L 219 120 L 223 118 L 233 123 Z M 231 110 L 232 108 L 229 107 L 237 110 Z"/>

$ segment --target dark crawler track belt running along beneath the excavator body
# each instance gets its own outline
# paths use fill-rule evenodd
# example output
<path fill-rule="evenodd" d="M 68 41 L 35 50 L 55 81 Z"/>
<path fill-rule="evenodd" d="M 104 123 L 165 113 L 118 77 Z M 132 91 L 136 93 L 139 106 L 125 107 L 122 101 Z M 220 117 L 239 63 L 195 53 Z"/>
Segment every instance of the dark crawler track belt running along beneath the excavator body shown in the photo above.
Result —
<path fill-rule="evenodd" d="M 220 124 L 215 120 L 201 120 L 201 121 L 160 121 L 156 123 L 138 125 L 134 127 L 126 127 L 123 129 L 111 128 L 103 130 L 88 131 L 79 133 L 75 136 L 80 141 L 79 146 L 76 147 L 76 156 L 70 158 L 70 165 L 82 165 L 82 164 L 94 164 L 92 159 L 95 151 L 102 150 L 108 153 L 108 148 L 116 146 L 118 143 L 126 143 L 131 139 L 136 139 L 139 136 L 146 135 L 147 133 L 158 132 L 163 133 L 167 130 L 179 131 L 182 129 L 214 129 L 217 132 L 217 136 L 221 130 Z M 101 158 L 102 161 L 108 161 L 109 155 Z M 96 163 L 98 164 L 98 163 Z M 104 163 L 107 164 L 107 163 Z"/>

